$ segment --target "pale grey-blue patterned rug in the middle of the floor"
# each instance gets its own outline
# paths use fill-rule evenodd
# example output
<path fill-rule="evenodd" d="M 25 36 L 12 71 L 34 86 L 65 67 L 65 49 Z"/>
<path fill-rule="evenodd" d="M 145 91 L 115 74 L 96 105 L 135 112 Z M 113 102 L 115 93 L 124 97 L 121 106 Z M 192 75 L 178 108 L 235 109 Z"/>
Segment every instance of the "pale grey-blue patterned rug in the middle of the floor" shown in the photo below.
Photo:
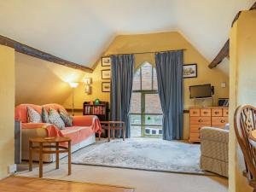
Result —
<path fill-rule="evenodd" d="M 200 145 L 153 138 L 98 142 L 73 154 L 73 164 L 211 175 L 200 169 Z"/>

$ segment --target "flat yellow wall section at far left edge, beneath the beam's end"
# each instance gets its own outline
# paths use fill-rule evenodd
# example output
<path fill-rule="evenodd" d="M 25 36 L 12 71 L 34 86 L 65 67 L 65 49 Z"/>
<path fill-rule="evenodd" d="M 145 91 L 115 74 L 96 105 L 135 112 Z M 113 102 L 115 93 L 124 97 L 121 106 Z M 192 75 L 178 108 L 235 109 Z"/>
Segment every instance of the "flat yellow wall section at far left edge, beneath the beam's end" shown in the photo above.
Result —
<path fill-rule="evenodd" d="M 0 179 L 15 163 L 15 50 L 0 45 Z"/>

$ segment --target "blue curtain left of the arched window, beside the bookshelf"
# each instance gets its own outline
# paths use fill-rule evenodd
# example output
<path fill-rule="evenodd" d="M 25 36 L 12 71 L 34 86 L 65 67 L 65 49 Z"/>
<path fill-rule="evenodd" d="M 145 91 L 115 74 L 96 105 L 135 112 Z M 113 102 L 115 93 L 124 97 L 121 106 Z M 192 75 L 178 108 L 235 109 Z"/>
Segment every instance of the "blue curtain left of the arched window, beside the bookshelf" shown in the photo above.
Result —
<path fill-rule="evenodd" d="M 111 56 L 111 119 L 125 122 L 125 137 L 131 137 L 129 111 L 133 71 L 134 55 Z"/>

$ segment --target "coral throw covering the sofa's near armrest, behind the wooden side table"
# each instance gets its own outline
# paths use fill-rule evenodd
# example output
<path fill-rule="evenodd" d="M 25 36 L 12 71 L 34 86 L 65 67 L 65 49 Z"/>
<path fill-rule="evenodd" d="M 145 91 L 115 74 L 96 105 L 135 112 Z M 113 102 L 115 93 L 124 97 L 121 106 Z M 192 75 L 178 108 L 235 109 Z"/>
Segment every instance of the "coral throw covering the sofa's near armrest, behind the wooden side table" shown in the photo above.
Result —
<path fill-rule="evenodd" d="M 55 125 L 47 124 L 47 123 L 22 123 L 21 129 L 38 129 L 43 128 L 47 131 L 48 137 L 63 137 L 61 131 L 55 127 Z"/>

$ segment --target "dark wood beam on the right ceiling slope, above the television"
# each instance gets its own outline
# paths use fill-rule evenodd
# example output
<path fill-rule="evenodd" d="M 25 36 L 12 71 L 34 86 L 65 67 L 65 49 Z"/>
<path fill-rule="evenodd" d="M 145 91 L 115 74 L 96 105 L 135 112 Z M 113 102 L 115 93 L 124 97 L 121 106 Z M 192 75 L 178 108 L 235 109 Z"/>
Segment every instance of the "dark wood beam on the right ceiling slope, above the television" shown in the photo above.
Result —
<path fill-rule="evenodd" d="M 256 2 L 253 3 L 253 6 L 249 9 L 249 10 L 253 10 L 256 9 Z M 233 22 L 232 22 L 232 26 L 234 25 L 234 23 L 236 22 L 236 20 L 238 20 L 239 16 L 241 15 L 241 11 L 239 11 L 236 14 L 236 17 L 234 18 Z M 228 39 L 228 41 L 224 44 L 223 48 L 220 49 L 220 51 L 218 52 L 218 55 L 214 58 L 214 60 L 209 64 L 209 68 L 214 68 L 217 67 L 218 64 L 224 60 L 224 58 L 230 58 L 230 39 Z"/>

